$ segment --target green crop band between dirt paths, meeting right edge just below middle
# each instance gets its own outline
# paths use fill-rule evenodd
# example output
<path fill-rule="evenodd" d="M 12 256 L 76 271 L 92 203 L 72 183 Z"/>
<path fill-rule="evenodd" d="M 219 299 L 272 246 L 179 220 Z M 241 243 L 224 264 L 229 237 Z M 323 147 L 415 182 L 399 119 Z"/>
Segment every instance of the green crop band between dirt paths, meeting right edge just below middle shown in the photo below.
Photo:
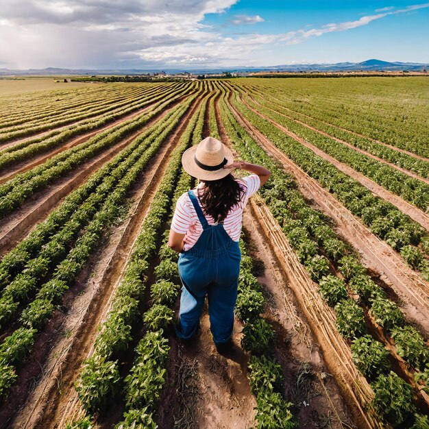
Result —
<path fill-rule="evenodd" d="M 313 151 L 303 147 L 293 138 L 285 136 L 274 125 L 262 119 L 247 107 L 233 100 L 235 108 L 241 112 L 262 134 L 267 136 L 279 149 L 317 180 L 345 205 L 353 215 L 360 217 L 373 234 L 386 241 L 413 268 L 423 275 L 429 275 L 429 236 L 421 225 L 412 221 L 404 213 L 387 201 L 376 197 L 365 186 L 341 173 L 330 162 L 323 160 Z M 416 247 L 421 243 L 421 247 Z"/>

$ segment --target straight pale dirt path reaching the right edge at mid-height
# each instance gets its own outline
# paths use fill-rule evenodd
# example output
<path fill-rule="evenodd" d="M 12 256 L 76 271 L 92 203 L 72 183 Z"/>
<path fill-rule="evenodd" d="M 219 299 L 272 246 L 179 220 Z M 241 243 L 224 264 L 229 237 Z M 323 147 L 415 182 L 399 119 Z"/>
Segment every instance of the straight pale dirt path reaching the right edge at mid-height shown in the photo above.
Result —
<path fill-rule="evenodd" d="M 252 106 L 249 106 L 249 104 L 243 99 L 241 100 L 243 101 L 245 106 L 247 106 L 247 108 L 252 110 L 252 112 L 258 114 L 266 121 L 269 121 L 279 130 L 284 132 L 284 134 L 293 138 L 298 143 L 301 143 L 303 146 L 313 151 L 317 156 L 320 156 L 324 160 L 330 162 L 332 165 L 334 165 L 334 167 L 336 167 L 336 169 L 339 169 L 339 171 L 342 171 L 343 173 L 352 177 L 354 180 L 357 180 L 361 185 L 365 186 L 365 188 L 368 188 L 369 191 L 371 191 L 375 195 L 378 195 L 378 197 L 384 199 L 385 201 L 389 201 L 389 203 L 393 204 L 393 206 L 397 207 L 399 210 L 401 210 L 406 215 L 408 215 L 411 219 L 418 222 L 421 226 L 423 226 L 423 228 L 425 228 L 426 230 L 429 230 L 429 214 L 425 213 L 423 210 L 420 210 L 416 206 L 413 206 L 413 204 L 408 203 L 401 197 L 398 197 L 397 195 L 391 193 L 390 191 L 387 191 L 387 189 L 383 188 L 373 180 L 369 179 L 369 177 L 352 169 L 352 167 L 349 167 L 348 165 L 343 164 L 343 162 L 339 162 L 333 156 L 326 154 L 321 149 L 319 149 L 315 145 L 312 145 L 307 140 L 304 140 L 304 138 L 297 136 L 297 134 L 291 132 L 283 125 L 280 125 L 279 123 L 273 121 L 273 119 L 270 119 L 265 114 L 258 112 L 258 110 L 252 108 Z"/>

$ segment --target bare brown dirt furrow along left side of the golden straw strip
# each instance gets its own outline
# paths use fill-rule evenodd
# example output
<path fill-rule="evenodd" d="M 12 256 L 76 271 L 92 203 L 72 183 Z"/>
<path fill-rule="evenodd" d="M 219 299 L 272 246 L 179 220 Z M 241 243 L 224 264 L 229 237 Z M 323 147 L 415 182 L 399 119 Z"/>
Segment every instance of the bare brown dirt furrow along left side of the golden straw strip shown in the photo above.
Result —
<path fill-rule="evenodd" d="M 286 397 L 295 404 L 299 427 L 316 429 L 326 421 L 333 429 L 352 427 L 352 413 L 336 382 L 328 376 L 323 350 L 312 334 L 252 209 L 246 210 L 243 225 L 254 248 L 252 257 L 261 260 L 265 267 L 265 272 L 258 276 L 267 294 L 268 308 L 264 317 L 278 335 L 275 355 L 283 367 Z M 303 380 L 302 384 L 300 380 Z"/>

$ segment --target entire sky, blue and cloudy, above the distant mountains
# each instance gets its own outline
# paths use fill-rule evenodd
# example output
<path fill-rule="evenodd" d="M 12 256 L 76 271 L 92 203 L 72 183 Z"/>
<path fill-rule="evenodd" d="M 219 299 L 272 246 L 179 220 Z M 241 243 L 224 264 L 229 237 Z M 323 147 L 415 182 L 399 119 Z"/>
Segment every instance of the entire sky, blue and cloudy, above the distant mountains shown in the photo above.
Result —
<path fill-rule="evenodd" d="M 429 63 L 419 1 L 2 0 L 0 68 Z"/>

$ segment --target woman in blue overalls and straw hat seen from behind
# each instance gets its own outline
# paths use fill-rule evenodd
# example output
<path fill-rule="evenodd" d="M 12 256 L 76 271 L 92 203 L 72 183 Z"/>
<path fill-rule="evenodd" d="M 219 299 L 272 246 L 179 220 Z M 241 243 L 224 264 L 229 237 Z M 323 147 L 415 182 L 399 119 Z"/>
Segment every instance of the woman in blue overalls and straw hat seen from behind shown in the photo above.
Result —
<path fill-rule="evenodd" d="M 230 149 L 212 137 L 186 150 L 182 165 L 199 184 L 177 200 L 170 229 L 169 246 L 180 252 L 183 284 L 176 332 L 181 339 L 195 335 L 208 295 L 213 341 L 219 352 L 226 351 L 234 325 L 243 209 L 271 173 L 259 165 L 234 162 Z M 234 168 L 254 174 L 235 180 L 230 173 Z"/>

